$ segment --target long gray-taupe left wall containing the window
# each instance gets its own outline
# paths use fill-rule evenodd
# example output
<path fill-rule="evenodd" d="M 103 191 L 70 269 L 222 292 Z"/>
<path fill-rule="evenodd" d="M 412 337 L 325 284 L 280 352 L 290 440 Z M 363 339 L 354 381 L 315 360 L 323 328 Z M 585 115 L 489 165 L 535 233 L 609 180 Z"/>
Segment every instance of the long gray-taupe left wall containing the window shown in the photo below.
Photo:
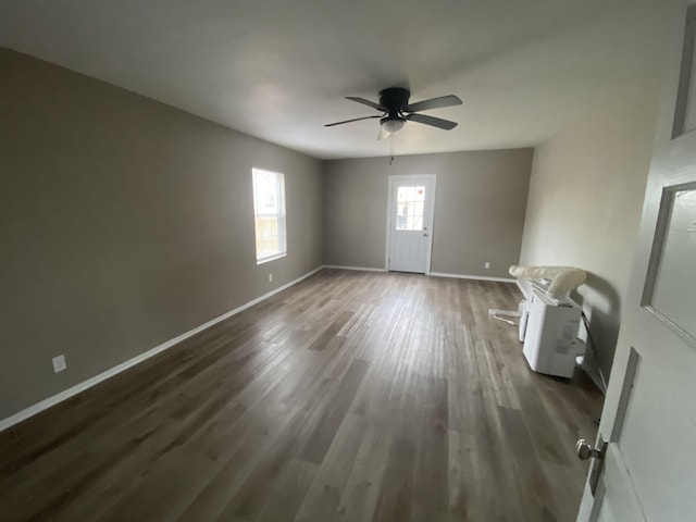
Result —
<path fill-rule="evenodd" d="M 0 419 L 322 264 L 318 160 L 3 49 L 0 78 Z M 252 166 L 286 175 L 261 266 Z"/>

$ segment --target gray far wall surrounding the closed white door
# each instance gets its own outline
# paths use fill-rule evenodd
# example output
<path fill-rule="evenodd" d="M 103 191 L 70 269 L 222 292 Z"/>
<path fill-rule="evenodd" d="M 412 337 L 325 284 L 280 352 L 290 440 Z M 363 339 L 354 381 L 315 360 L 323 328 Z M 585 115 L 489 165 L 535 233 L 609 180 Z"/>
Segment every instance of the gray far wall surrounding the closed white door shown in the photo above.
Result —
<path fill-rule="evenodd" d="M 324 262 L 384 269 L 388 176 L 436 174 L 431 270 L 509 277 L 531 165 L 532 149 L 325 161 Z"/>

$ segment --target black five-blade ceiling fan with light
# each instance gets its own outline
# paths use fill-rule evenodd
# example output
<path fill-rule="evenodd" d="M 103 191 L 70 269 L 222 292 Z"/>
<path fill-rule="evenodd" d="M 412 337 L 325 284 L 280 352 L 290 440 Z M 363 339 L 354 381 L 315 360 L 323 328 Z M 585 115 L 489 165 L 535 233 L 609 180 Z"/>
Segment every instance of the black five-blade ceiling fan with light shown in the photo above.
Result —
<path fill-rule="evenodd" d="M 431 98 L 430 100 L 417 101 L 415 103 L 409 103 L 410 96 L 411 91 L 402 87 L 389 87 L 388 89 L 380 91 L 378 103 L 365 100 L 364 98 L 347 96 L 347 100 L 357 101 L 363 105 L 376 109 L 377 111 L 381 111 L 382 114 L 355 117 L 352 120 L 345 120 L 336 123 L 327 123 L 324 126 L 333 127 L 334 125 L 343 125 L 344 123 L 378 117 L 380 135 L 377 136 L 377 139 L 384 139 L 388 138 L 397 130 L 400 130 L 406 122 L 423 123 L 433 127 L 444 128 L 445 130 L 451 130 L 458 125 L 456 122 L 450 122 L 449 120 L 418 113 L 419 111 L 439 109 L 442 107 L 461 105 L 461 100 L 455 95 L 440 96 L 438 98 Z"/>

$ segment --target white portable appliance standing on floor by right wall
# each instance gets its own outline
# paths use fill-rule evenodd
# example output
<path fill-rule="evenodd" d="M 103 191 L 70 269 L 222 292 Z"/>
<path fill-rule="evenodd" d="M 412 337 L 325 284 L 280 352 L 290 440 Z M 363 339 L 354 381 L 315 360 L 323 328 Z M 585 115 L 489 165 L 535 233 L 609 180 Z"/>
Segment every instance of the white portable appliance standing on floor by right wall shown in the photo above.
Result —
<path fill-rule="evenodd" d="M 575 358 L 585 352 L 585 344 L 577 338 L 582 309 L 570 298 L 554 299 L 532 287 L 526 303 L 524 358 L 538 373 L 572 377 Z M 522 321 L 520 321 L 522 326 Z"/>

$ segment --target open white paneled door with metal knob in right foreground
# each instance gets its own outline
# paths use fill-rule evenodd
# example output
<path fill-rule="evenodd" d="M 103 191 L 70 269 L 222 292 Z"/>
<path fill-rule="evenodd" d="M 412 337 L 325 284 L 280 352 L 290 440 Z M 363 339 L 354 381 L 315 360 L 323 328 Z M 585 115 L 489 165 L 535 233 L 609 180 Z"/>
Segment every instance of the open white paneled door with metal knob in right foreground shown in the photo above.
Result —
<path fill-rule="evenodd" d="M 670 71 L 582 522 L 696 520 L 696 5 L 666 9 Z"/>

